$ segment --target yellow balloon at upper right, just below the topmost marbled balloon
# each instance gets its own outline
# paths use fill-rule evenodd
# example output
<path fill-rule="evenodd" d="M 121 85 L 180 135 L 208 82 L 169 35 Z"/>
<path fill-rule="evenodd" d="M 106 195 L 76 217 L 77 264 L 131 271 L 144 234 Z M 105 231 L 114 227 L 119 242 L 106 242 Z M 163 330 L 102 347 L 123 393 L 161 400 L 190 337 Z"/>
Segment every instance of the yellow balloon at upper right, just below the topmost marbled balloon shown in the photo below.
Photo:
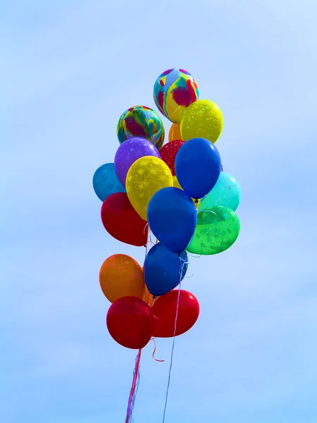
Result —
<path fill-rule="evenodd" d="M 180 123 L 182 140 L 206 138 L 215 143 L 223 130 L 223 112 L 210 100 L 198 100 L 185 111 Z"/>

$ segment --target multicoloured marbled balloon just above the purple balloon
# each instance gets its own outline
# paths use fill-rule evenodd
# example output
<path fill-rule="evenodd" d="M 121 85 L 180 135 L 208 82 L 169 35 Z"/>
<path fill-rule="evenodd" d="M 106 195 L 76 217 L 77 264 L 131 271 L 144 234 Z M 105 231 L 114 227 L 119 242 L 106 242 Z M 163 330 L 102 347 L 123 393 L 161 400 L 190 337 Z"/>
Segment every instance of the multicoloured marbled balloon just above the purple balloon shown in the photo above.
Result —
<path fill-rule="evenodd" d="M 117 135 L 120 144 L 128 138 L 142 137 L 159 150 L 164 142 L 165 130 L 163 121 L 156 111 L 147 106 L 134 106 L 120 116 Z"/>

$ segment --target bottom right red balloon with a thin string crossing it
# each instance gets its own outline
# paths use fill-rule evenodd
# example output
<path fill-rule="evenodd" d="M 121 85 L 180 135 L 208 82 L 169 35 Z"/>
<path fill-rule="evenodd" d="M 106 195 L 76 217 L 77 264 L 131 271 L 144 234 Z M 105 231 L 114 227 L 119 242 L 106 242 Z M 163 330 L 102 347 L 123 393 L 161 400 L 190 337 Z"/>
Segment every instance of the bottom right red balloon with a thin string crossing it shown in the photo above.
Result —
<path fill-rule="evenodd" d="M 152 307 L 154 314 L 153 336 L 170 338 L 174 336 L 176 308 L 179 290 L 171 290 L 155 300 Z M 180 290 L 178 304 L 178 320 L 175 336 L 189 331 L 199 316 L 199 302 L 197 298 L 186 290 Z"/>

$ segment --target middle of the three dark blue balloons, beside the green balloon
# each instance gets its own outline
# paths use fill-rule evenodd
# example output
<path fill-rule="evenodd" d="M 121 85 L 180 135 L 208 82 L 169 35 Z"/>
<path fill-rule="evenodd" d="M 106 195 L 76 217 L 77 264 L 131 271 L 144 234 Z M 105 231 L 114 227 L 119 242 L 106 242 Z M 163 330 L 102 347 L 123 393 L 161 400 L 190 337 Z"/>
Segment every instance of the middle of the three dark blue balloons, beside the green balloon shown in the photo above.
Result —
<path fill-rule="evenodd" d="M 147 219 L 156 238 L 171 252 L 180 253 L 194 235 L 197 211 L 184 191 L 163 188 L 151 198 Z"/>

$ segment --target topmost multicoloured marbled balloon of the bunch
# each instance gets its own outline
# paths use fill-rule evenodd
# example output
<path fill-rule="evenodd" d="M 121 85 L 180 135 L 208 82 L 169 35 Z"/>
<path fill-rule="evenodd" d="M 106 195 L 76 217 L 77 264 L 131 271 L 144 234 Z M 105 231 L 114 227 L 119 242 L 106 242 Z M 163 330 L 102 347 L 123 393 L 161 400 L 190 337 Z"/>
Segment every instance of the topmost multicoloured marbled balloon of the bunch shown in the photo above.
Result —
<path fill-rule="evenodd" d="M 154 102 L 172 122 L 180 122 L 189 104 L 196 102 L 198 96 L 197 82 L 184 69 L 168 69 L 154 84 Z"/>

